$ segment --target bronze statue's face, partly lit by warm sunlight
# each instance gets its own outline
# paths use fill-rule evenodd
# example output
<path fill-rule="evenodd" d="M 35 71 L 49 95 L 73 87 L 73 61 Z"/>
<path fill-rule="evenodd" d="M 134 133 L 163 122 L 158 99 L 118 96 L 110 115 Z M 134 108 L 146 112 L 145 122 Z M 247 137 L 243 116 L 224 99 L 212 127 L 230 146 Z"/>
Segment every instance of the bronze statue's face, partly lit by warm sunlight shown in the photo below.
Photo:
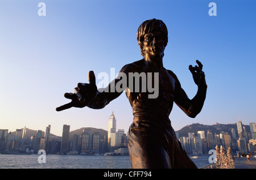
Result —
<path fill-rule="evenodd" d="M 164 37 L 161 32 L 149 32 L 144 35 L 144 54 L 151 57 L 158 57 L 164 52 Z"/>

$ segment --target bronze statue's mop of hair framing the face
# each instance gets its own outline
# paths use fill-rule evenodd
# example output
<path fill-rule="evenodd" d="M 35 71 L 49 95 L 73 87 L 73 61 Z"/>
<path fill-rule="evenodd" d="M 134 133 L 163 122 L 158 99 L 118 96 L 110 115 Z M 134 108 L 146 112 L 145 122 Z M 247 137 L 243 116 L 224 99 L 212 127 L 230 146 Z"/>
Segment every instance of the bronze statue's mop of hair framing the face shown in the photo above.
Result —
<path fill-rule="evenodd" d="M 144 35 L 149 32 L 162 32 L 164 36 L 164 48 L 168 42 L 168 31 L 166 24 L 162 20 L 159 19 L 150 19 L 144 21 L 138 28 L 137 31 L 137 40 L 139 43 L 139 48 L 141 48 L 141 55 L 144 57 L 144 48 L 143 48 L 143 41 Z"/>

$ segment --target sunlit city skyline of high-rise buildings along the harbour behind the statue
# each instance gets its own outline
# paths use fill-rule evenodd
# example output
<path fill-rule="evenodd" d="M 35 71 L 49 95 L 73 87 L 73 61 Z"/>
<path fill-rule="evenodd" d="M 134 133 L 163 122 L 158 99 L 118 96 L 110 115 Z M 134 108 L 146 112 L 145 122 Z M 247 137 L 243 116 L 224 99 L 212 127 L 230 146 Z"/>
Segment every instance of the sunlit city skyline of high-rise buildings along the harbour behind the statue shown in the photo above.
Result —
<path fill-rule="evenodd" d="M 22 129 L 17 129 L 15 135 L 11 135 L 8 130 L 0 130 L 0 150 L 3 153 L 8 153 L 10 150 L 26 151 L 27 153 L 36 153 L 39 149 L 43 149 L 48 153 L 57 154 L 72 154 L 72 155 L 111 155 L 112 153 L 119 153 L 121 155 L 128 155 L 127 135 L 123 130 L 116 130 L 117 120 L 114 113 L 109 117 L 108 131 L 105 136 L 101 136 L 97 132 L 97 128 L 91 131 L 90 128 L 84 128 L 83 131 L 77 134 L 69 131 L 69 125 L 63 125 L 63 134 L 61 137 L 49 135 L 51 125 L 46 127 L 46 132 L 43 134 L 42 130 L 36 131 L 36 135 L 27 135 L 26 126 Z M 208 154 L 211 149 L 215 149 L 216 145 L 231 148 L 233 153 L 254 153 L 251 139 L 256 139 L 256 125 L 255 122 L 250 123 L 249 127 L 245 127 L 242 121 L 230 125 L 216 124 L 212 125 L 219 132 L 212 131 L 212 128 L 205 128 L 197 125 L 197 128 L 187 129 L 187 135 L 179 135 L 175 131 L 177 139 L 179 139 L 184 150 L 190 155 Z M 234 125 L 236 127 L 234 127 Z M 248 126 L 248 125 L 246 125 Z M 227 128 L 228 127 L 228 128 Z M 230 127 L 232 130 L 230 131 Z M 196 130 L 196 131 L 195 131 Z M 11 151 L 12 152 L 12 151 Z"/>

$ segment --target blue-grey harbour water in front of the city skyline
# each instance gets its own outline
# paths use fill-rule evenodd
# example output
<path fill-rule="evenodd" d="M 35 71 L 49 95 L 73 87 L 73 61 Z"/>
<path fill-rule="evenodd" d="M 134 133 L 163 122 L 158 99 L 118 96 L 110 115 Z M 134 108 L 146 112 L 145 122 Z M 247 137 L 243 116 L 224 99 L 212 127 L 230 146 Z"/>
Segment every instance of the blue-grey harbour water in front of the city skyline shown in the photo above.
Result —
<path fill-rule="evenodd" d="M 39 163 L 40 155 L 1 155 L 1 169 L 129 169 L 129 156 L 46 155 L 46 163 Z M 210 155 L 190 156 L 198 168 L 209 165 Z"/>

